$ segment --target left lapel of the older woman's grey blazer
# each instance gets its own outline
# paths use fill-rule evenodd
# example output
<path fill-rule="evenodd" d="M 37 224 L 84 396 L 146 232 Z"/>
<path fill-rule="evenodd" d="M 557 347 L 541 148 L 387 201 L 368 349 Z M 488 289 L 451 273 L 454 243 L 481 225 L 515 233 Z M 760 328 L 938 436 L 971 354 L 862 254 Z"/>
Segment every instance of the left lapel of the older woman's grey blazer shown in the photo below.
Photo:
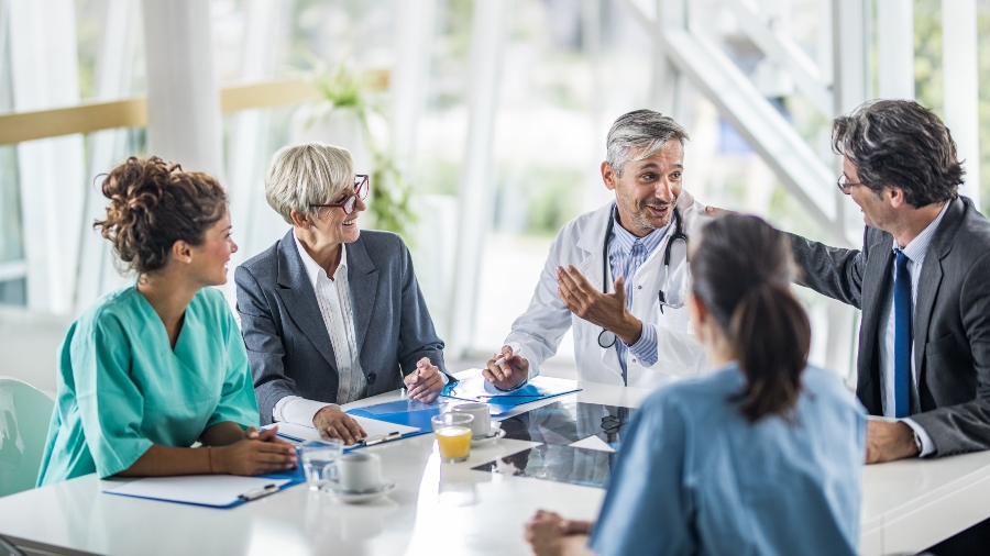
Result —
<path fill-rule="evenodd" d="M 289 316 L 309 342 L 316 346 L 320 355 L 327 359 L 333 371 L 337 371 L 337 357 L 330 333 L 323 323 L 320 308 L 317 304 L 316 291 L 302 266 L 302 258 L 296 248 L 296 238 L 289 230 L 278 244 L 278 297 L 282 298 Z"/>

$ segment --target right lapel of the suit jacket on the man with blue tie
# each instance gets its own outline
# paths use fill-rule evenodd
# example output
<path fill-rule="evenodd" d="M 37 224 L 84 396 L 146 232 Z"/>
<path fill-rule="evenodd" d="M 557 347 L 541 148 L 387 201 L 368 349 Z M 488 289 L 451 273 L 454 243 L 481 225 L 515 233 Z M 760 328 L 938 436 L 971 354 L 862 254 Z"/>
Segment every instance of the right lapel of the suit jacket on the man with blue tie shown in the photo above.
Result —
<path fill-rule="evenodd" d="M 928 343 L 928 323 L 942 285 L 942 259 L 952 251 L 964 218 L 964 203 L 960 200 L 953 200 L 949 203 L 938 229 L 932 235 L 932 243 L 925 253 L 921 276 L 917 279 L 917 301 L 914 305 L 914 372 L 917 376 L 919 394 L 922 393 L 921 386 L 925 383 L 925 346 Z M 924 400 L 925 397 L 920 396 L 919 403 Z M 932 408 L 922 407 L 922 411 L 927 409 Z"/>

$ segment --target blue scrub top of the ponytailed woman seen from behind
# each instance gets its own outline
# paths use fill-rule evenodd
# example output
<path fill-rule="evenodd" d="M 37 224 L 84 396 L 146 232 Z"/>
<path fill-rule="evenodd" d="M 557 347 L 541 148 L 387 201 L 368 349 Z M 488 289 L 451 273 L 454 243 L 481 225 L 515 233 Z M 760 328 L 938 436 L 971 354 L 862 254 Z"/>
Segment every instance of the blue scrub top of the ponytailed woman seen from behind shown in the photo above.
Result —
<path fill-rule="evenodd" d="M 650 394 L 617 458 L 591 547 L 620 554 L 854 555 L 866 415 L 834 374 L 807 367 L 788 422 L 729 397 L 735 364 Z"/>

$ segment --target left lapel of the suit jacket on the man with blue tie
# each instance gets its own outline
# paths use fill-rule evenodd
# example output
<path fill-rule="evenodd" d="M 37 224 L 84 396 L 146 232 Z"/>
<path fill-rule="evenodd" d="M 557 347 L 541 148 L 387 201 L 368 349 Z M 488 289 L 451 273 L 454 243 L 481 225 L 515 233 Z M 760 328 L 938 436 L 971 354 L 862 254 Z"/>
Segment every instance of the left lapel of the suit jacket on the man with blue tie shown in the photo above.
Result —
<path fill-rule="evenodd" d="M 877 340 L 883 325 L 880 322 L 880 303 L 887 299 L 891 281 L 890 269 L 894 256 L 892 242 L 893 237 L 884 233 L 869 246 L 872 253 L 867 257 L 862 278 L 862 329 L 859 336 L 859 377 L 856 390 L 862 404 L 872 414 L 880 414 L 883 410 L 880 401 L 882 385 Z"/>

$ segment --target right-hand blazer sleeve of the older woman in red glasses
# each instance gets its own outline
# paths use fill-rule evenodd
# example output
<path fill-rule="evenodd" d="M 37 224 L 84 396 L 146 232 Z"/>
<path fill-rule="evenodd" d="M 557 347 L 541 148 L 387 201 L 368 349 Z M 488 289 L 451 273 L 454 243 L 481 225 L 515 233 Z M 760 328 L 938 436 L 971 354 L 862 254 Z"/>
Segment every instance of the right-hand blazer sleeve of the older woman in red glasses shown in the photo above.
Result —
<path fill-rule="evenodd" d="M 419 281 L 413 270 L 413 257 L 405 243 L 400 243 L 403 257 L 402 271 L 402 304 L 403 314 L 399 325 L 398 360 L 403 369 L 403 376 L 416 370 L 416 362 L 428 357 L 440 372 L 447 375 L 448 383 L 455 383 L 458 379 L 447 371 L 443 363 L 443 341 L 437 336 L 433 329 L 433 319 L 427 309 Z"/>

